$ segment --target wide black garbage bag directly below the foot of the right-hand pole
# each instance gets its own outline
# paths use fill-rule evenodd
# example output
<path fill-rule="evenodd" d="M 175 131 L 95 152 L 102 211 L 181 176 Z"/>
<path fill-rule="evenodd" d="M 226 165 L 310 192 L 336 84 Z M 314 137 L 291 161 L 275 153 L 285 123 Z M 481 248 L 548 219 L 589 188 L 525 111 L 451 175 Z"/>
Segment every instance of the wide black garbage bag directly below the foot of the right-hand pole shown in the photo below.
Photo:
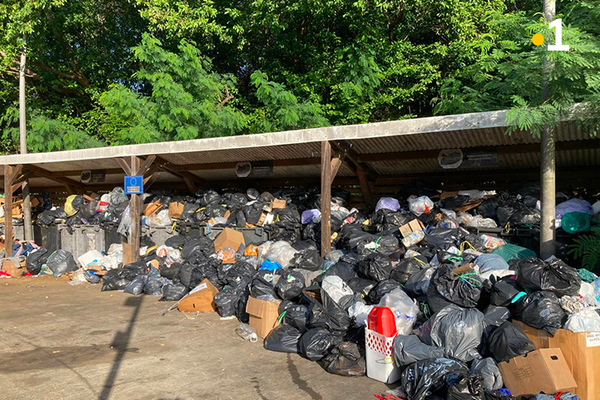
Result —
<path fill-rule="evenodd" d="M 575 268 L 562 260 L 544 262 L 536 257 L 519 260 L 517 282 L 529 292 L 545 290 L 559 297 L 576 296 L 581 287 L 581 278 Z"/>

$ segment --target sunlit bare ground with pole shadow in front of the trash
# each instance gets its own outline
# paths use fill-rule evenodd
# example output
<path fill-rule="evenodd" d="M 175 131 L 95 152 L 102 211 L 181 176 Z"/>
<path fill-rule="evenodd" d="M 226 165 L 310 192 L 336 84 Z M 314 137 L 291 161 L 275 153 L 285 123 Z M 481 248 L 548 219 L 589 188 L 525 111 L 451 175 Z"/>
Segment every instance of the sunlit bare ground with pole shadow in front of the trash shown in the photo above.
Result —
<path fill-rule="evenodd" d="M 172 302 L 0 279 L 0 399 L 374 399 L 387 387 L 328 374 L 239 338 L 216 313 Z"/>

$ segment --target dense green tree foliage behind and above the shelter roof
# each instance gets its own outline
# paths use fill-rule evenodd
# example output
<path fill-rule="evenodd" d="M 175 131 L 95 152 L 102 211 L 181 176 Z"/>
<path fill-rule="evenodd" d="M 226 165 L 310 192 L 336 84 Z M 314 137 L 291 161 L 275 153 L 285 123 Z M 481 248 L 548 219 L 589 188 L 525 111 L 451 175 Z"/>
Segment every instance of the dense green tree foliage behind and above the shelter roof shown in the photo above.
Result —
<path fill-rule="evenodd" d="M 31 151 L 505 108 L 535 134 L 600 114 L 600 1 L 558 6 L 569 52 L 533 0 L 5 0 L 0 150 L 24 38 Z"/>

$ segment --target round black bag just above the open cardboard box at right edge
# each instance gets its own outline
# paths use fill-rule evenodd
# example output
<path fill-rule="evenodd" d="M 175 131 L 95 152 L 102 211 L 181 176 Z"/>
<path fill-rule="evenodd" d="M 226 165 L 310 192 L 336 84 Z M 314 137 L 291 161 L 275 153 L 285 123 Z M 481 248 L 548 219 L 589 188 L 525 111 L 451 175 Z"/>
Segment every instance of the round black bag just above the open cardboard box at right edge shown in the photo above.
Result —
<path fill-rule="evenodd" d="M 543 329 L 554 335 L 563 327 L 567 315 L 563 311 L 558 297 L 552 292 L 535 292 L 518 303 L 520 319 L 536 329 Z"/>

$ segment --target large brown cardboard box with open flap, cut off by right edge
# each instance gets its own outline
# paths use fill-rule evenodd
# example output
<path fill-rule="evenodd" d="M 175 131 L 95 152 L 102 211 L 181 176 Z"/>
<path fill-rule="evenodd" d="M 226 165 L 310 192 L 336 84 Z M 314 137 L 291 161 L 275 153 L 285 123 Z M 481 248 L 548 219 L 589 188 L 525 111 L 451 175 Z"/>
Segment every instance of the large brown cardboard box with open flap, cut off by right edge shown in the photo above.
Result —
<path fill-rule="evenodd" d="M 554 336 L 514 321 L 537 349 L 560 348 L 573 373 L 579 398 L 600 400 L 600 333 L 559 329 Z"/>

